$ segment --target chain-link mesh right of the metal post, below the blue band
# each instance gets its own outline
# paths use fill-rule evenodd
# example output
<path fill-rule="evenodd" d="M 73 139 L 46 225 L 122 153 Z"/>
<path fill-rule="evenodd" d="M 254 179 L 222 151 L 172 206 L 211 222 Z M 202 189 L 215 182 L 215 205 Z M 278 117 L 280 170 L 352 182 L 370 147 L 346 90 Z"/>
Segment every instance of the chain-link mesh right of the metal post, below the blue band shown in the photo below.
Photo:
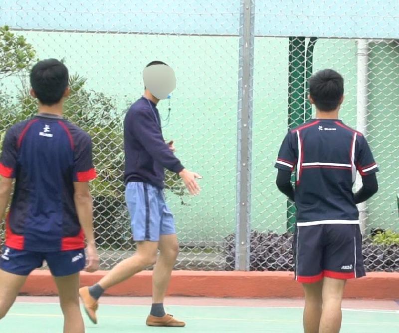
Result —
<path fill-rule="evenodd" d="M 313 54 L 309 52 L 312 44 Z M 378 194 L 359 207 L 366 268 L 399 269 L 398 51 L 399 42 L 394 39 L 256 38 L 252 270 L 293 270 L 295 209 L 276 190 L 275 172 L 271 170 L 287 128 L 315 116 L 306 101 L 306 78 L 324 68 L 334 68 L 344 76 L 345 101 L 340 115 L 345 123 L 366 135 L 380 167 Z M 378 235 L 380 232 L 383 234 Z"/>

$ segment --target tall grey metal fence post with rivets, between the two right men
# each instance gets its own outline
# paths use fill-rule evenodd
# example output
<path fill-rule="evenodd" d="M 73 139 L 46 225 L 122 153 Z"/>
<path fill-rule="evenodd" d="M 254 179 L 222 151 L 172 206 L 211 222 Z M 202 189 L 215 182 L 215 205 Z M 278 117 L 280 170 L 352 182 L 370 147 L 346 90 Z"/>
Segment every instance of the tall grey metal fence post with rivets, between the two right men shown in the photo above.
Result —
<path fill-rule="evenodd" d="M 235 269 L 249 270 L 255 0 L 241 0 L 238 71 Z"/>

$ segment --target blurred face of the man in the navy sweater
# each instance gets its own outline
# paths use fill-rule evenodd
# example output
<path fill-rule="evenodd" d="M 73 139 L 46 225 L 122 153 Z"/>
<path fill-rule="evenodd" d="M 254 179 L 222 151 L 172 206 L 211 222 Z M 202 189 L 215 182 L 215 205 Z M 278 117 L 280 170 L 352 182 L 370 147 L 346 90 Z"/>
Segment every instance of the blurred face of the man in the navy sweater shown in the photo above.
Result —
<path fill-rule="evenodd" d="M 166 99 L 176 88 L 174 70 L 167 65 L 152 65 L 143 70 L 144 85 L 158 99 Z"/>

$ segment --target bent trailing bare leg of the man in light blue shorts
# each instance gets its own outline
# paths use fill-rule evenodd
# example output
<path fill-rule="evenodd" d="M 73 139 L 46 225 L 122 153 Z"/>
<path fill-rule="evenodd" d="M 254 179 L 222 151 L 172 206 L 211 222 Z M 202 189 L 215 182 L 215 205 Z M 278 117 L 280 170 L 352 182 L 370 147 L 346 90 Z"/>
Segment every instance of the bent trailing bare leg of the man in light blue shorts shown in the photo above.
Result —
<path fill-rule="evenodd" d="M 125 281 L 148 266 L 154 265 L 157 260 L 157 252 L 158 242 L 138 242 L 137 252 L 132 257 L 116 265 L 98 284 L 102 289 L 106 290 Z"/>

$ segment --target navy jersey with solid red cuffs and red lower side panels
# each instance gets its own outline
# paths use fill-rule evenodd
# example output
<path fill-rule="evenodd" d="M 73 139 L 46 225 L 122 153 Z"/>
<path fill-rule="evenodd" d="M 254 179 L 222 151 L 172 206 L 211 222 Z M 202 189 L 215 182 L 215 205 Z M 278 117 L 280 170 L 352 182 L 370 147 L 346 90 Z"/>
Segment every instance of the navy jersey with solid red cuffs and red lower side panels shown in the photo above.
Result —
<path fill-rule="evenodd" d="M 19 122 L 5 135 L 0 175 L 15 178 L 7 247 L 35 252 L 84 248 L 73 182 L 96 177 L 86 132 L 50 115 Z"/>

